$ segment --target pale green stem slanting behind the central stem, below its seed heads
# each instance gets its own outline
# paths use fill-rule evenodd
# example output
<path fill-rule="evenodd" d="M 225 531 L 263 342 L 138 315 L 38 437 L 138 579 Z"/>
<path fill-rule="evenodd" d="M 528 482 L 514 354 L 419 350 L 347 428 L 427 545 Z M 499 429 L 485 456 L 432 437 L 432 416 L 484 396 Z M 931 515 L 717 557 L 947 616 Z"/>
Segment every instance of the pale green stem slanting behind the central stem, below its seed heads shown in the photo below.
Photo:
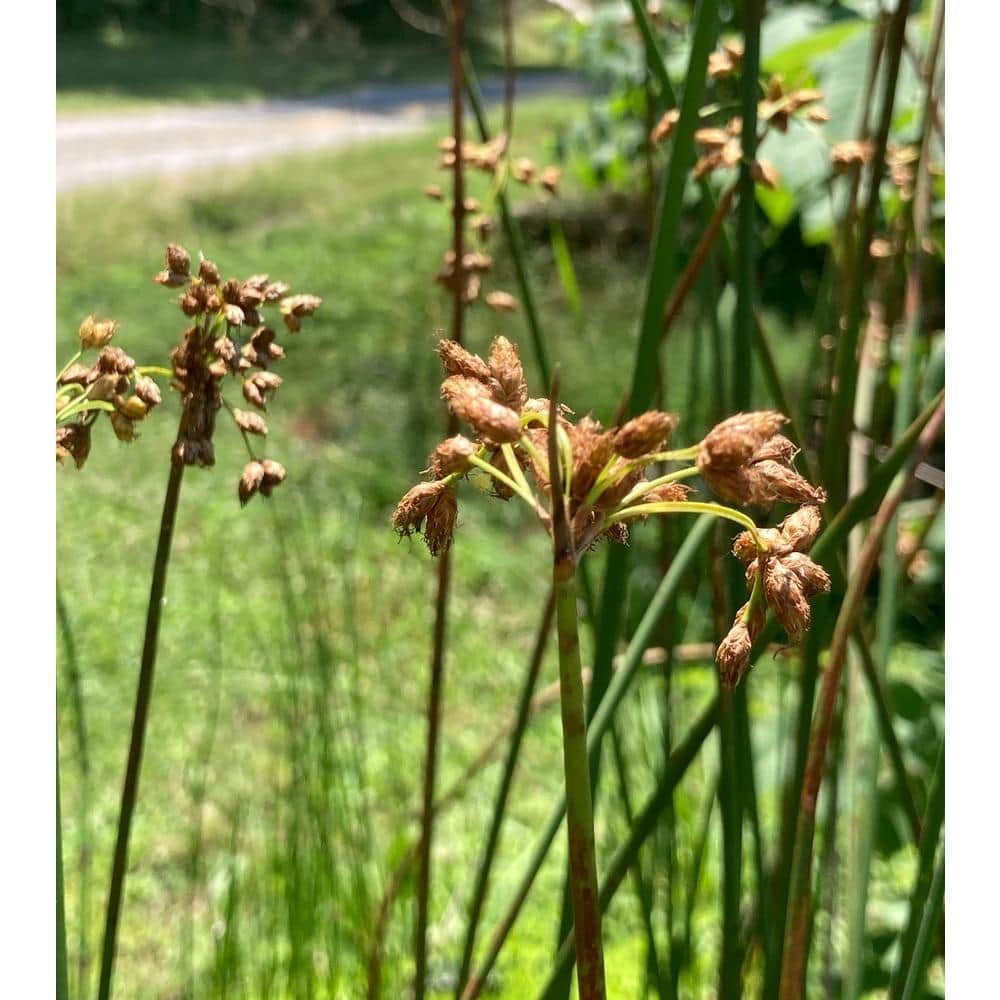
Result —
<path fill-rule="evenodd" d="M 670 569 L 660 581 L 660 585 L 657 588 L 656 593 L 653 595 L 652 600 L 646 607 L 646 611 L 644 612 L 642 619 L 636 626 L 632 639 L 629 642 L 628 649 L 625 652 L 621 668 L 615 672 L 610 684 L 608 685 L 605 697 L 601 700 L 596 711 L 590 717 L 590 727 L 587 734 L 587 753 L 591 764 L 593 764 L 597 759 L 601 737 L 607 731 L 611 720 L 614 718 L 615 712 L 618 710 L 625 694 L 629 690 L 632 682 L 635 680 L 639 667 L 642 664 L 643 652 L 653 641 L 655 629 L 662 618 L 664 611 L 673 599 L 674 594 L 680 587 L 684 573 L 687 571 L 689 564 L 698 552 L 702 542 L 704 542 L 705 538 L 708 536 L 712 523 L 713 520 L 711 517 L 703 516 L 699 518 L 698 522 L 688 532 L 684 542 L 681 544 L 681 547 L 677 550 L 677 554 L 674 557 L 673 562 L 670 564 Z M 552 841 L 555 839 L 559 826 L 562 823 L 563 816 L 565 815 L 565 809 L 566 801 L 565 798 L 563 798 L 556 803 L 552 814 L 549 816 L 548 822 L 542 829 L 541 834 L 539 834 L 535 848 L 532 851 L 527 870 L 518 883 L 513 899 L 508 905 L 504 916 L 494 928 L 487 954 L 477 967 L 475 973 L 469 979 L 469 982 L 466 984 L 465 991 L 462 994 L 462 1000 L 473 1000 L 474 997 L 479 996 L 484 985 L 486 984 L 486 978 L 496 963 L 500 950 L 503 948 L 503 944 L 513 928 L 514 923 L 517 921 L 518 915 L 521 912 L 521 907 L 527 899 L 535 876 L 542 867 L 542 863 L 548 854 Z"/>

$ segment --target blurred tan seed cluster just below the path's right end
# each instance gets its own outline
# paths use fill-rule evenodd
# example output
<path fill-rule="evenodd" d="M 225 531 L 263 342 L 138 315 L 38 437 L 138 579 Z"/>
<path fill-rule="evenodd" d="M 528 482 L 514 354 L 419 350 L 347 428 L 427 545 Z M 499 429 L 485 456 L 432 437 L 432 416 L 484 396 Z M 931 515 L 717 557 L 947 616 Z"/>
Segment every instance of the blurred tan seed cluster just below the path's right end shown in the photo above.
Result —
<path fill-rule="evenodd" d="M 525 157 L 509 160 L 507 157 L 508 145 L 508 139 L 504 133 L 500 133 L 489 142 L 465 141 L 462 143 L 462 165 L 489 174 L 494 180 L 490 189 L 489 205 L 483 206 L 478 198 L 472 197 L 464 198 L 462 201 L 462 211 L 467 217 L 469 229 L 483 244 L 489 241 L 496 230 L 496 219 L 491 212 L 492 201 L 496 198 L 497 191 L 508 175 L 519 184 L 526 186 L 537 183 L 552 195 L 558 192 L 559 181 L 562 177 L 562 170 L 557 166 L 548 166 L 538 170 L 535 164 Z M 456 162 L 454 137 L 446 136 L 442 139 L 438 143 L 438 150 L 441 154 L 439 166 L 453 170 Z M 424 194 L 434 201 L 443 202 L 445 198 L 444 192 L 437 184 L 428 184 L 424 188 Z M 510 292 L 496 289 L 483 294 L 483 278 L 492 268 L 493 258 L 487 253 L 477 250 L 467 251 L 462 254 L 461 261 L 457 261 L 454 250 L 447 250 L 442 258 L 441 267 L 434 275 L 433 280 L 452 295 L 461 296 L 465 305 L 470 305 L 482 297 L 483 301 L 494 311 L 512 312 L 518 308 L 519 303 Z"/>

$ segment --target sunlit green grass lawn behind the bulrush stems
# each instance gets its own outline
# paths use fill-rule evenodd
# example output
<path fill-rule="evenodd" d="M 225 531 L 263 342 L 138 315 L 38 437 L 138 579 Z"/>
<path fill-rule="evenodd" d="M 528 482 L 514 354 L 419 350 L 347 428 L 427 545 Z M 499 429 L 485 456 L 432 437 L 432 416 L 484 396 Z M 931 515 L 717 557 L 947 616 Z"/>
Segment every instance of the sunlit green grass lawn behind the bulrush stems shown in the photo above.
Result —
<path fill-rule="evenodd" d="M 546 162 L 553 127 L 579 107 L 567 100 L 521 105 L 515 151 Z M 168 241 L 203 251 L 224 274 L 266 270 L 324 299 L 302 333 L 283 338 L 285 385 L 268 414 L 267 453 L 289 474 L 273 500 L 239 509 L 245 455 L 224 414 L 216 467 L 185 475 L 133 828 L 117 972 L 122 998 L 350 997 L 364 981 L 373 914 L 412 843 L 419 802 L 433 569 L 419 540 L 398 541 L 388 519 L 444 422 L 433 346 L 449 304 L 429 277 L 447 245 L 449 219 L 420 193 L 441 181 L 441 134 L 443 126 L 365 148 L 59 199 L 60 358 L 73 352 L 75 330 L 93 312 L 121 323 L 117 342 L 140 363 L 166 363 L 185 326 L 174 293 L 151 281 Z M 486 196 L 480 177 L 471 183 Z M 567 191 L 574 193 L 571 180 Z M 502 246 L 491 250 L 497 268 L 489 287 L 516 291 Z M 567 305 L 550 246 L 532 245 L 530 260 L 564 398 L 609 420 L 630 376 L 641 255 L 610 245 L 578 254 L 579 314 Z M 727 308 L 731 303 L 722 303 L 723 316 Z M 499 333 L 521 342 L 529 385 L 540 393 L 521 315 L 493 314 L 481 304 L 470 310 L 473 349 L 485 350 Z M 777 333 L 782 370 L 801 384 L 803 334 Z M 701 404 L 686 389 L 690 366 L 707 354 L 697 346 L 701 335 L 682 326 L 668 355 L 665 404 L 689 414 L 689 404 L 695 408 L 681 443 L 706 429 L 697 417 Z M 93 982 L 100 945 L 176 412 L 167 399 L 129 446 L 102 423 L 86 468 L 58 477 L 71 983 L 81 976 Z M 548 545 L 527 512 L 474 494 L 468 486 L 460 496 L 442 789 L 512 715 L 547 587 Z M 639 529 L 633 542 L 640 551 L 657 544 L 653 526 Z M 595 579 L 602 558 L 591 557 Z M 633 608 L 644 606 L 657 582 L 651 569 L 636 570 Z M 693 595 L 692 586 L 685 600 Z M 711 624 L 703 626 L 688 638 L 710 638 Z M 552 654 L 542 685 L 556 677 Z M 584 662 L 589 655 L 584 636 Z M 714 690 L 713 669 L 710 661 L 696 663 L 675 681 L 679 731 Z M 751 689 L 758 718 L 778 711 L 790 669 L 779 661 Z M 651 670 L 623 716 L 637 801 L 650 787 L 659 748 L 634 734 L 649 731 L 661 704 L 662 676 Z M 781 745 L 776 727 L 761 729 Z M 777 763 L 776 750 L 758 749 L 762 760 Z M 682 861 L 694 851 L 691 831 L 715 768 L 713 743 L 677 795 Z M 488 768 L 440 819 L 431 955 L 441 996 L 458 959 L 497 775 Z M 759 780 L 776 806 L 765 767 Z M 503 912 L 561 783 L 559 719 L 550 710 L 526 739 L 481 940 Z M 605 799 L 610 788 L 602 786 Z M 609 818 L 619 815 L 611 804 L 598 804 L 602 858 L 622 832 Z M 549 968 L 564 856 L 560 835 L 502 953 L 496 995 L 530 995 Z M 707 918 L 718 892 L 714 864 L 701 892 Z M 402 995 L 407 982 L 413 919 L 406 882 L 387 940 L 386 996 Z M 715 977 L 718 928 L 696 922 L 695 932 L 698 954 L 686 985 L 688 995 L 702 996 Z M 612 907 L 607 940 L 611 994 L 634 995 L 643 934 L 627 886 Z"/>

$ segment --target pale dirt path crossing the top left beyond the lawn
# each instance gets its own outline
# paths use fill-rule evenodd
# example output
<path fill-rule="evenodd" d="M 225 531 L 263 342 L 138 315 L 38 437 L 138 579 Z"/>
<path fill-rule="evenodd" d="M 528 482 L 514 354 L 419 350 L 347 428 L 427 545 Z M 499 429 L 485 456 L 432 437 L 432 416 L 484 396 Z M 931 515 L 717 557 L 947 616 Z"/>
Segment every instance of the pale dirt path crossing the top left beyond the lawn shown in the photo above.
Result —
<path fill-rule="evenodd" d="M 500 81 L 487 81 L 483 96 L 496 102 L 502 89 Z M 518 80 L 517 92 L 537 96 L 582 93 L 582 88 L 572 77 L 547 74 Z M 447 102 L 445 84 L 385 85 L 314 100 L 59 117 L 56 189 L 71 191 L 401 135 L 443 115 Z"/>

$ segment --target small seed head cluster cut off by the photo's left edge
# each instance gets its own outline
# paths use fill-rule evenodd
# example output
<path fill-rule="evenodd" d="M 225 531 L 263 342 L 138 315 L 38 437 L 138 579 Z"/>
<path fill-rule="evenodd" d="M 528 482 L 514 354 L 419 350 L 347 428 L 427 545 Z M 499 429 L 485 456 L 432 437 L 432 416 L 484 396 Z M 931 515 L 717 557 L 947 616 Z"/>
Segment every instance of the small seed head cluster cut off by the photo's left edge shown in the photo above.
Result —
<path fill-rule="evenodd" d="M 82 468 L 90 454 L 91 429 L 103 413 L 119 441 L 136 437 L 136 424 L 160 400 L 157 384 L 111 340 L 113 320 L 88 316 L 80 324 L 80 352 L 56 379 L 56 460 Z M 79 360 L 97 351 L 91 364 Z"/>

